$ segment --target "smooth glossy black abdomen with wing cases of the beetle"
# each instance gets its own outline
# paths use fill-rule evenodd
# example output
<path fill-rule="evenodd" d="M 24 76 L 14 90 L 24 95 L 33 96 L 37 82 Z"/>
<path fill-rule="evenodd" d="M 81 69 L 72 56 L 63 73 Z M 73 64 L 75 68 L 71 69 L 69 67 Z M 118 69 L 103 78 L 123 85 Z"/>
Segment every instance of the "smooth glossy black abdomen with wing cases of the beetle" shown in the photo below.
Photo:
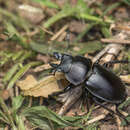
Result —
<path fill-rule="evenodd" d="M 104 101 L 118 104 L 126 99 L 125 86 L 120 78 L 98 64 L 94 64 L 86 85 L 92 95 Z"/>

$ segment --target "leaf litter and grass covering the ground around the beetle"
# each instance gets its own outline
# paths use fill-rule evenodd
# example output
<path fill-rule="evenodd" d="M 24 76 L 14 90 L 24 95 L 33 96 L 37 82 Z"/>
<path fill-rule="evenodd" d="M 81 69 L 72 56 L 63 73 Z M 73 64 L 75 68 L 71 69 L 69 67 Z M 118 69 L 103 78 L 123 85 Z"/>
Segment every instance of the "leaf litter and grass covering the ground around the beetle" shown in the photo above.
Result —
<path fill-rule="evenodd" d="M 16 2 L 15 0 L 13 2 L 15 2 L 15 6 L 17 7 L 25 5 L 24 2 L 22 2 L 22 4 Z M 118 118 L 117 121 L 112 119 L 107 112 L 106 114 L 105 112 L 99 114 L 100 112 L 103 112 L 102 108 L 98 108 L 100 110 L 99 112 L 97 109 L 93 110 L 93 108 L 91 108 L 90 112 L 87 113 L 85 108 L 86 104 L 83 102 L 82 98 L 73 103 L 70 100 L 70 93 L 66 93 L 66 96 L 64 95 L 67 98 L 70 97 L 68 98 L 70 100 L 68 102 L 70 102 L 70 106 L 72 105 L 70 111 L 66 114 L 68 116 L 57 115 L 54 111 L 58 113 L 58 111 L 60 109 L 62 110 L 66 104 L 62 103 L 63 106 L 60 104 L 58 111 L 52 109 L 50 104 L 55 103 L 54 100 L 53 103 L 51 102 L 52 99 L 50 96 L 53 93 L 62 91 L 67 83 L 64 77 L 59 76 L 57 79 L 54 75 L 47 75 L 38 80 L 36 75 L 39 75 L 39 73 L 42 73 L 42 71 L 44 71 L 43 73 L 46 71 L 48 74 L 48 69 L 50 69 L 50 67 L 49 64 L 43 64 L 40 66 L 42 62 L 41 60 L 39 62 L 39 60 L 36 58 L 36 55 L 41 53 L 46 57 L 47 55 L 51 57 L 52 52 L 59 51 L 73 55 L 85 55 L 93 58 L 93 61 L 98 60 L 98 58 L 102 58 L 103 56 L 104 58 L 101 59 L 102 64 L 104 61 L 115 59 L 116 57 L 114 55 L 118 57 L 120 53 L 124 51 L 122 50 L 122 47 L 120 47 L 119 51 L 114 52 L 112 50 L 116 49 L 111 50 L 109 48 L 103 49 L 102 52 L 102 48 L 107 48 L 107 45 L 104 44 L 103 41 L 106 40 L 105 43 L 107 42 L 108 44 L 114 42 L 114 44 L 116 44 L 115 46 L 118 47 L 120 46 L 118 44 L 121 43 L 121 46 L 126 49 L 127 58 L 129 58 L 129 53 L 127 53 L 129 48 L 129 24 L 123 23 L 125 19 L 126 21 L 129 21 L 129 14 L 127 11 L 129 2 L 126 0 L 117 1 L 115 3 L 103 0 L 92 1 L 88 3 L 85 3 L 83 0 L 78 0 L 78 2 L 77 0 L 74 0 L 70 3 L 67 3 L 65 0 L 63 0 L 62 2 L 38 0 L 38 3 L 33 3 L 29 1 L 26 3 L 28 9 L 24 8 L 24 14 L 22 14 L 20 17 L 17 16 L 17 13 L 12 13 L 18 12 L 18 8 L 9 6 L 9 2 L 0 2 L 0 6 L 2 7 L 0 9 L 0 17 L 4 17 L 3 19 L 5 19 L 1 21 L 1 25 L 4 26 L 0 26 L 0 31 L 2 30 L 2 33 L 0 34 L 0 40 L 2 40 L 4 43 L 3 47 L 0 44 L 0 51 L 4 50 L 3 48 L 5 47 L 7 47 L 7 50 L 14 48 L 9 53 L 7 53 L 7 51 L 4 52 L 4 55 L 0 53 L 0 74 L 4 73 L 4 75 L 0 77 L 0 90 L 2 89 L 1 97 L 3 97 L 0 100 L 0 124 L 2 121 L 4 128 L 11 127 L 12 129 L 16 129 L 17 126 L 18 129 L 22 130 L 36 128 L 49 130 L 59 128 L 81 128 L 88 130 L 122 129 L 120 126 L 121 122 L 118 120 Z M 111 6 L 111 4 L 113 6 Z M 32 17 L 29 13 L 29 8 L 31 7 L 40 10 L 41 17 L 39 17 L 36 12 L 33 13 L 33 11 L 32 15 L 34 15 L 34 17 Z M 33 18 L 32 21 L 30 21 L 30 16 Z M 119 20 L 119 22 L 117 21 L 116 24 L 114 23 L 115 20 L 113 19 L 113 16 L 116 17 L 116 20 Z M 33 22 L 33 24 L 31 22 Z M 113 23 L 114 27 L 109 28 Z M 72 28 L 72 25 L 75 27 Z M 67 28 L 64 29 L 64 27 Z M 66 39 L 68 30 L 70 30 L 69 43 Z M 112 32 L 117 30 L 118 32 L 121 32 L 121 34 L 113 40 L 112 35 L 115 34 Z M 122 33 L 122 31 L 124 31 L 124 33 Z M 125 38 L 122 39 L 122 37 Z M 17 54 L 13 52 L 14 50 L 17 52 Z M 114 55 L 111 55 L 111 52 L 114 53 Z M 125 58 L 125 56 L 121 57 Z M 52 59 L 49 59 L 47 62 L 50 62 L 51 60 Z M 118 75 L 121 73 L 120 77 L 124 82 L 126 82 L 126 87 L 129 89 L 129 67 L 123 68 L 122 71 L 119 66 L 114 66 L 114 70 L 116 70 Z M 20 95 L 14 92 L 16 91 L 14 88 L 17 86 L 20 88 Z M 61 88 L 61 86 L 63 88 Z M 11 94 L 10 89 L 13 90 Z M 10 97 L 10 95 L 19 96 Z M 21 95 L 26 96 L 23 97 Z M 28 107 L 28 96 L 29 100 L 30 96 L 32 98 L 32 101 L 30 100 L 30 107 Z M 43 97 L 43 102 L 45 102 L 44 106 L 39 106 L 39 103 L 36 101 L 39 96 Z M 10 105 L 8 101 L 10 98 L 12 105 Z M 57 97 L 55 99 L 57 100 Z M 57 104 L 58 102 L 56 102 L 55 105 Z M 69 106 L 69 104 L 66 106 Z M 76 104 L 78 107 L 76 107 Z M 129 99 L 122 104 L 121 109 L 126 110 L 129 113 L 128 108 Z M 98 115 L 96 115 L 96 113 L 98 113 Z M 127 115 L 128 113 L 125 114 Z M 129 120 L 129 115 L 127 118 Z M 92 124 L 89 124 L 89 122 Z M 123 124 L 125 124 L 125 122 L 123 122 Z"/>

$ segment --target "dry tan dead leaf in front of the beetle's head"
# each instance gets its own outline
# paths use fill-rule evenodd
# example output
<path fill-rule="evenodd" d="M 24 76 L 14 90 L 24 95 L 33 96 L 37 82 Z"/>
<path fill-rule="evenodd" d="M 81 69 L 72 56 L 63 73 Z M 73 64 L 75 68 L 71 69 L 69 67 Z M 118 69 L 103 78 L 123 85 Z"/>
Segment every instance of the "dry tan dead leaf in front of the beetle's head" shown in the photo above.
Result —
<path fill-rule="evenodd" d="M 17 82 L 17 86 L 25 96 L 48 97 L 48 95 L 64 89 L 67 82 L 62 82 L 62 80 L 65 80 L 62 73 L 56 73 L 55 76 L 49 75 L 40 81 L 37 81 L 33 75 L 28 75 L 25 80 Z"/>

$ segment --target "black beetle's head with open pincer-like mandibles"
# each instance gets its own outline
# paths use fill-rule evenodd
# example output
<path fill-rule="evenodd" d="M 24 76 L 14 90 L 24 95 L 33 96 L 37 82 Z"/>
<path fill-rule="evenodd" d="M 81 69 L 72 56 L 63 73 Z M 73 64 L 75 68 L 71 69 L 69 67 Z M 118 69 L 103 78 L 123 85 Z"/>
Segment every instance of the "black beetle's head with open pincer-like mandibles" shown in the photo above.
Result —
<path fill-rule="evenodd" d="M 72 64 L 72 59 L 73 57 L 71 55 L 68 54 L 61 54 L 58 52 L 54 52 L 53 53 L 54 57 L 57 60 L 60 60 L 60 64 L 53 64 L 50 63 L 50 65 L 53 67 L 54 72 L 58 71 L 58 72 L 63 72 L 63 73 L 67 73 L 69 72 L 70 68 L 71 68 L 71 64 Z"/>

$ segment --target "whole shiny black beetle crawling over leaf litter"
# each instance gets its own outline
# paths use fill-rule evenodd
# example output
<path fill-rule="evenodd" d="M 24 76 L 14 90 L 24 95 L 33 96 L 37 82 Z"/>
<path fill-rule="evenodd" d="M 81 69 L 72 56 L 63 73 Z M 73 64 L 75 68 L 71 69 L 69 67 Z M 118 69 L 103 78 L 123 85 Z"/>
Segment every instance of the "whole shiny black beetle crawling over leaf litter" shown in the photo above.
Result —
<path fill-rule="evenodd" d="M 92 63 L 90 59 L 82 56 L 73 57 L 58 52 L 54 52 L 54 56 L 61 62 L 60 64 L 51 63 L 50 65 L 55 72 L 59 71 L 65 74 L 66 79 L 70 82 L 67 89 L 65 88 L 67 91 L 72 87 L 82 85 L 85 94 L 91 94 L 95 103 L 120 116 L 128 123 L 124 115 L 118 110 L 118 106 L 127 97 L 125 86 L 118 76 L 104 66 Z M 116 112 L 103 105 L 102 102 L 104 101 L 115 104 Z"/>

